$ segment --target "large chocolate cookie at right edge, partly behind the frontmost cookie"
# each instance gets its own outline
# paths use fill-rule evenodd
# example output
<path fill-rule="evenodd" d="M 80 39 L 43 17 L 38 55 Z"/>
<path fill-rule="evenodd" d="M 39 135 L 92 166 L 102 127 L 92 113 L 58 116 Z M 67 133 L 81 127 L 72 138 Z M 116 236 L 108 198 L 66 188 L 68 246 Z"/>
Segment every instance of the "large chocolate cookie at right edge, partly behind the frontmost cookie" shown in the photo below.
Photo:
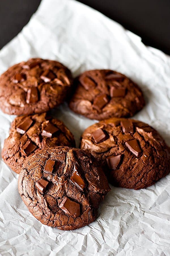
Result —
<path fill-rule="evenodd" d="M 146 123 L 110 118 L 88 127 L 81 148 L 104 166 L 108 181 L 118 187 L 141 189 L 170 171 L 170 148 Z"/>

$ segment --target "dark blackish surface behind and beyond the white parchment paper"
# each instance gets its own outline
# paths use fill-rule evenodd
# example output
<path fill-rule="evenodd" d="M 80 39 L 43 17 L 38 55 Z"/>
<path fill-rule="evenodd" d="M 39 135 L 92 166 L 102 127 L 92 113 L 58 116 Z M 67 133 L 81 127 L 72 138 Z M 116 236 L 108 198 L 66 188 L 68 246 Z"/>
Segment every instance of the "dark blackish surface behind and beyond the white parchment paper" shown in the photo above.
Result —
<path fill-rule="evenodd" d="M 62 0 L 61 0 L 62 1 Z M 80 0 L 170 55 L 170 0 Z M 0 0 L 0 49 L 20 32 L 40 0 Z"/>

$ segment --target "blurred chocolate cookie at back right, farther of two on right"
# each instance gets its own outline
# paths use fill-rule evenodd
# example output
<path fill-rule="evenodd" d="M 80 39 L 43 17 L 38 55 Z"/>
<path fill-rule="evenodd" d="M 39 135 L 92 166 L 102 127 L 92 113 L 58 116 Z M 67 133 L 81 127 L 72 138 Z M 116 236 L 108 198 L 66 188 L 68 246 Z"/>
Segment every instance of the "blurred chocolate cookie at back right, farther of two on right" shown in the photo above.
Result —
<path fill-rule="evenodd" d="M 131 117 L 145 105 L 139 86 L 116 71 L 86 71 L 75 87 L 69 107 L 91 119 Z"/>

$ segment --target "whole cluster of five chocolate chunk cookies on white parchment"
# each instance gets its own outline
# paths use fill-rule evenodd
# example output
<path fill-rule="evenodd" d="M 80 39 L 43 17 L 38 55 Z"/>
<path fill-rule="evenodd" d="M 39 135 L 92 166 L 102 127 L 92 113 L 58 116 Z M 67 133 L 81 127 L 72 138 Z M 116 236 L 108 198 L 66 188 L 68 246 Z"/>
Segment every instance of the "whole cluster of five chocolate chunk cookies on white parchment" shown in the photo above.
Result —
<path fill-rule="evenodd" d="M 84 131 L 79 149 L 65 124 L 50 116 L 65 100 L 75 113 L 99 120 Z M 97 218 L 109 183 L 141 189 L 169 173 L 163 138 L 129 119 L 144 106 L 139 86 L 116 71 L 86 71 L 73 80 L 61 63 L 37 58 L 1 75 L 0 108 L 18 115 L 2 157 L 19 174 L 19 193 L 35 218 L 80 228 Z"/>

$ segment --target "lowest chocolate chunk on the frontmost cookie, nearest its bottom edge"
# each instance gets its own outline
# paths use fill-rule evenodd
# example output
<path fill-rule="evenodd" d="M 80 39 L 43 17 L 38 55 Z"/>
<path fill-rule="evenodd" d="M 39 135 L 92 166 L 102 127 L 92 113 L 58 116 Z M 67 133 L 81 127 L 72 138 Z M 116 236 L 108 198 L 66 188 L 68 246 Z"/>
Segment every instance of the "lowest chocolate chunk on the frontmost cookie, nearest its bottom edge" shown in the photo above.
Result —
<path fill-rule="evenodd" d="M 59 205 L 59 208 L 74 218 L 77 218 L 80 215 L 80 204 L 70 200 L 68 197 L 63 199 Z"/>

